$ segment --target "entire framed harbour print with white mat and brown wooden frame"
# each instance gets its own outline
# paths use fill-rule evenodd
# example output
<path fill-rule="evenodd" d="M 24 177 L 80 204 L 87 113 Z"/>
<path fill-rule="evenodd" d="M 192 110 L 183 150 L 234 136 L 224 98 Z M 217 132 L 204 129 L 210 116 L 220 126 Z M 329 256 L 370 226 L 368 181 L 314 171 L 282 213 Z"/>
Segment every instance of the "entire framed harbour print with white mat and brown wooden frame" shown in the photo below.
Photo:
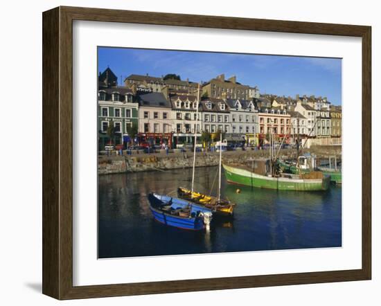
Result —
<path fill-rule="evenodd" d="M 371 28 L 43 14 L 43 293 L 371 279 Z"/>

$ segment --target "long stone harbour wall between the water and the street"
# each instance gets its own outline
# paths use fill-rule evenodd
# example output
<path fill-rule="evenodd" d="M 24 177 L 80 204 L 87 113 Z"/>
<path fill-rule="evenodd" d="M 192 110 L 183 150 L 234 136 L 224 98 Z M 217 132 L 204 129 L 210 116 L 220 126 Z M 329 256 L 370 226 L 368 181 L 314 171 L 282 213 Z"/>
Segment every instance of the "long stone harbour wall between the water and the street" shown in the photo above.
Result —
<path fill-rule="evenodd" d="M 319 159 L 329 156 L 341 157 L 342 147 L 339 146 L 316 146 L 303 150 L 316 154 Z M 295 150 L 281 150 L 278 156 L 281 159 L 295 158 Z M 222 161 L 226 163 L 240 163 L 247 159 L 269 157 L 269 150 L 245 150 L 223 152 Z M 220 154 L 218 152 L 198 152 L 196 154 L 196 167 L 218 165 Z M 115 174 L 125 172 L 165 171 L 170 169 L 192 168 L 193 152 L 184 153 L 156 153 L 135 154 L 121 156 L 98 156 L 98 174 Z"/>

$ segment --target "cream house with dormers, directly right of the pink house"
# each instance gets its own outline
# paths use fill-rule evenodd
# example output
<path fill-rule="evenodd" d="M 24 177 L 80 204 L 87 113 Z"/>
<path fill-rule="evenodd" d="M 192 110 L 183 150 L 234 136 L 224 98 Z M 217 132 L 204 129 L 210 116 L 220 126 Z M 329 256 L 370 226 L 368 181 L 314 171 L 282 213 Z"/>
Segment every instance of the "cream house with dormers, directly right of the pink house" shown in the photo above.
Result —
<path fill-rule="evenodd" d="M 193 95 L 169 95 L 172 106 L 171 122 L 173 133 L 173 144 L 177 147 L 187 143 L 193 143 L 195 132 L 197 137 L 201 136 L 202 106 L 199 105 L 198 119 L 197 96 Z M 197 127 L 195 129 L 197 122 Z"/>

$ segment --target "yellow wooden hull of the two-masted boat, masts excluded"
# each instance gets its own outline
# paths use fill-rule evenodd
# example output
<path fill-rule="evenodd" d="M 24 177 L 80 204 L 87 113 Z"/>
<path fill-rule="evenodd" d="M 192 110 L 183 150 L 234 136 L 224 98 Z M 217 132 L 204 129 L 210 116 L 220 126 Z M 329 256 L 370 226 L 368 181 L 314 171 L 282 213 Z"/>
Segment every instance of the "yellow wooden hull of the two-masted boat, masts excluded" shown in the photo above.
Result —
<path fill-rule="evenodd" d="M 212 197 L 210 195 L 204 195 L 200 192 L 195 192 L 186 188 L 179 187 L 177 189 L 177 195 L 179 198 L 185 199 L 187 201 L 192 201 L 195 204 L 199 204 L 209 208 L 219 215 L 233 215 L 234 206 L 236 204 L 231 203 L 227 200 L 218 201 L 217 197 Z"/>

